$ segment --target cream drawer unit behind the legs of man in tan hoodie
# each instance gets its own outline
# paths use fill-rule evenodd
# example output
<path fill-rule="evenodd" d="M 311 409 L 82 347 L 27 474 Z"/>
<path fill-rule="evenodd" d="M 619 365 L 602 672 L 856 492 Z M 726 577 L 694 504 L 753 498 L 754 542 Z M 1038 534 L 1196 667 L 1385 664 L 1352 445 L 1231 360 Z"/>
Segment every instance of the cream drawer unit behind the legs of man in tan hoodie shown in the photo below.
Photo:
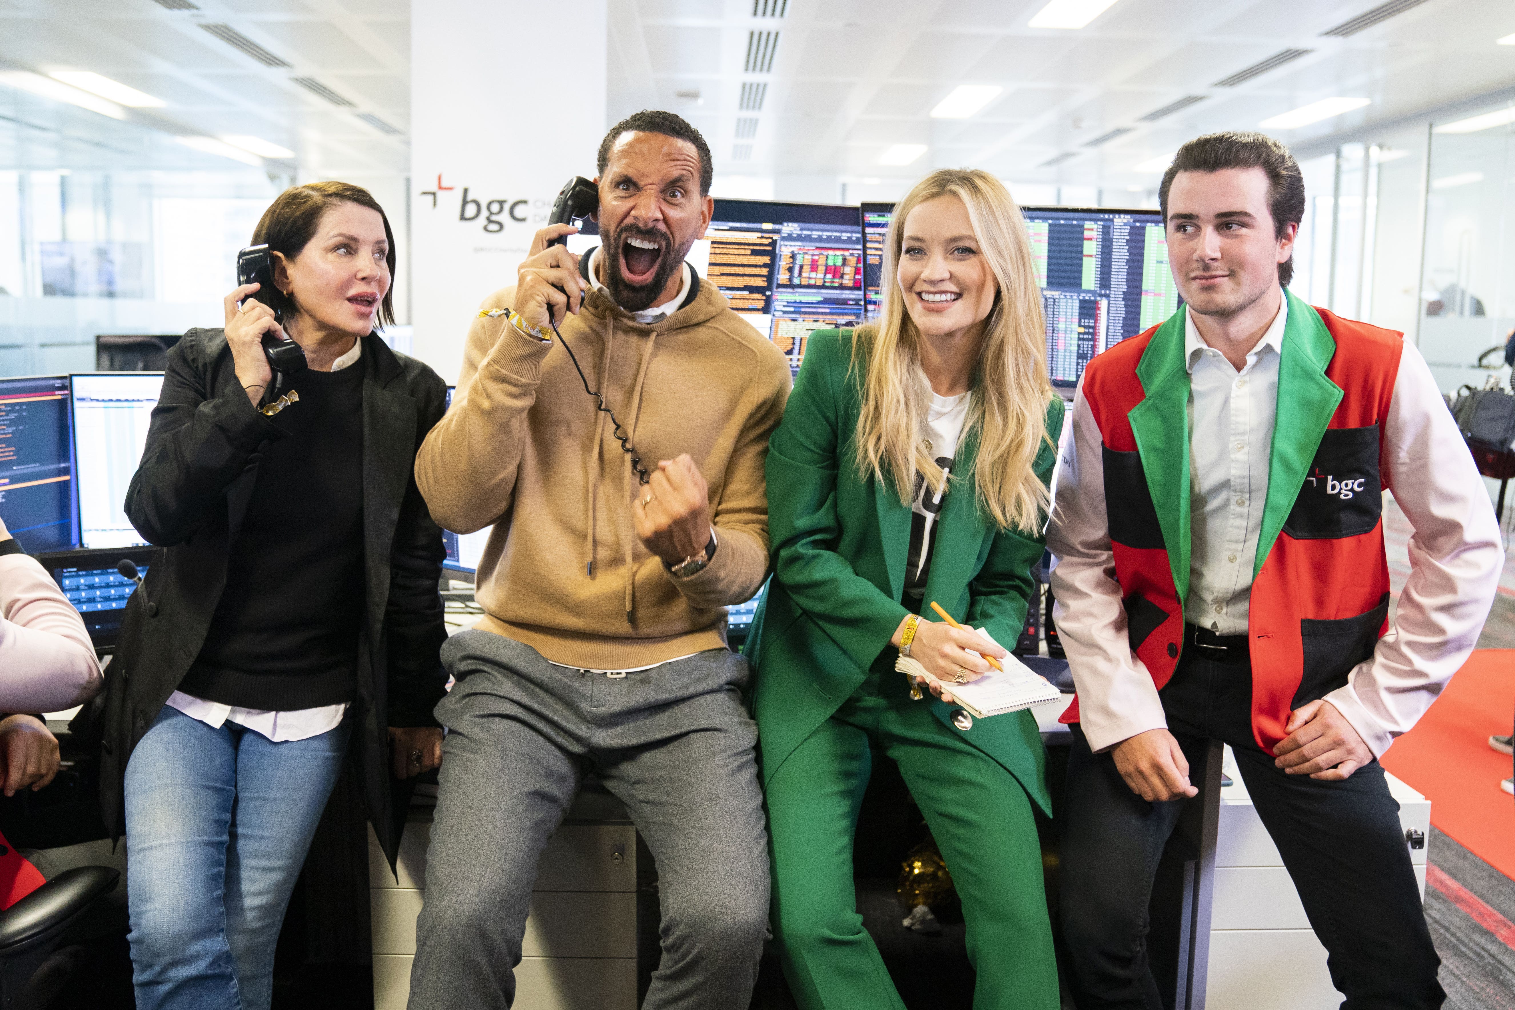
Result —
<path fill-rule="evenodd" d="M 368 872 L 376 1010 L 403 1010 L 426 898 L 430 810 L 414 809 L 397 875 L 370 831 Z M 635 1010 L 636 830 L 564 824 L 542 851 L 515 969 L 517 1005 L 530 1010 Z"/>

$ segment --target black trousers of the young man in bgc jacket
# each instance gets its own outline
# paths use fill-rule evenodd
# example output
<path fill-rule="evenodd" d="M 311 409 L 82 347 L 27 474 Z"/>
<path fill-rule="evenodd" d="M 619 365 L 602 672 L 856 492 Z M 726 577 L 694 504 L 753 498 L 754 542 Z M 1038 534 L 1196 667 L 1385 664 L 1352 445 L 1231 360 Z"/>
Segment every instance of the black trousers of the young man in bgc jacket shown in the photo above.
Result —
<path fill-rule="evenodd" d="M 1251 668 L 1186 650 L 1162 689 L 1168 728 L 1191 768 L 1210 739 L 1230 743 L 1257 816 L 1273 836 L 1329 952 L 1342 1010 L 1439 1007 L 1430 942 L 1398 803 L 1373 762 L 1345 781 L 1285 775 L 1251 737 Z M 1079 1010 L 1160 1010 L 1147 963 L 1147 904 L 1183 801 L 1147 803 L 1109 753 L 1074 727 L 1062 819 L 1062 930 Z M 1277 971 L 1289 971 L 1279 965 Z"/>

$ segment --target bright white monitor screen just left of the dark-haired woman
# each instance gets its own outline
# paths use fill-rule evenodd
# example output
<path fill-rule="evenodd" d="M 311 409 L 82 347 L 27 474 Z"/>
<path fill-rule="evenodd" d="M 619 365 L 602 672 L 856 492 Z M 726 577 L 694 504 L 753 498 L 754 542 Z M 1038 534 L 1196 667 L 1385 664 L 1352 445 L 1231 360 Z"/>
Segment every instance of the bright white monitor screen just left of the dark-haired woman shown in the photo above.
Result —
<path fill-rule="evenodd" d="M 79 474 L 79 544 L 144 544 L 126 518 L 126 489 L 147 444 L 162 373 L 73 376 L 74 465 Z"/>

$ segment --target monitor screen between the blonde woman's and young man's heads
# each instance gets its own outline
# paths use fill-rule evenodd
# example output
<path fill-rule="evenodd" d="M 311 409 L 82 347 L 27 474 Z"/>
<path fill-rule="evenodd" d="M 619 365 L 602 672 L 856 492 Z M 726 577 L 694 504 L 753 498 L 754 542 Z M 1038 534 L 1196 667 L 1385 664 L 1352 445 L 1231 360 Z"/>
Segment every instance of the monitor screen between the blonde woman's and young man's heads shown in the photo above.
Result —
<path fill-rule="evenodd" d="M 886 229 L 882 207 L 891 204 L 867 206 L 876 207 L 876 226 Z M 1104 207 L 1021 207 L 1021 214 L 1047 316 L 1047 371 L 1053 385 L 1071 391 L 1091 357 L 1177 310 L 1162 214 Z M 870 300 L 879 291 L 873 288 Z"/>

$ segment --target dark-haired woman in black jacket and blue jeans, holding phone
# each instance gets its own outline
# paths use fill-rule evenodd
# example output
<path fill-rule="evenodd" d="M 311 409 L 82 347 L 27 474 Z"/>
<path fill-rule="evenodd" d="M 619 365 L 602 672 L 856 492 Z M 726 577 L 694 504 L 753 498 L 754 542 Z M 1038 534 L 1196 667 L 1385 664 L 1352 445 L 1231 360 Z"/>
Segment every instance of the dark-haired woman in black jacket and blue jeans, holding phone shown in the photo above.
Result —
<path fill-rule="evenodd" d="M 389 221 L 358 186 L 311 183 L 274 200 L 253 242 L 274 289 L 236 288 L 224 329 L 168 353 L 127 489 L 132 524 L 164 548 L 105 707 L 139 1010 L 268 1007 L 344 756 L 391 862 L 401 783 L 441 762 L 444 551 L 412 469 L 447 386 L 376 335 L 394 320 Z M 308 368 L 276 382 L 264 336 L 292 339 Z"/>

